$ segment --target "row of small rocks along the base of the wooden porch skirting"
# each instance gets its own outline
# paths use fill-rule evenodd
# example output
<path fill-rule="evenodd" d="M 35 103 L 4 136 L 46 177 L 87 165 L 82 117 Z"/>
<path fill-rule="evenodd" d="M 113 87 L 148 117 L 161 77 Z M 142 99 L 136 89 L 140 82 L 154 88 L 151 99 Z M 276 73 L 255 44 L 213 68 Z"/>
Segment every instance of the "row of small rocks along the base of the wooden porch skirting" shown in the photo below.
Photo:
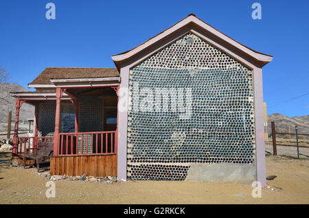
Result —
<path fill-rule="evenodd" d="M 114 176 L 105 176 L 105 177 L 95 177 L 92 175 L 50 175 L 49 172 L 46 173 L 38 173 L 39 175 L 44 175 L 47 180 L 50 181 L 58 181 L 58 180 L 66 180 L 66 181 L 89 181 L 89 182 L 106 182 L 108 184 L 113 184 L 115 182 L 122 182 L 122 180 L 117 180 Z"/>

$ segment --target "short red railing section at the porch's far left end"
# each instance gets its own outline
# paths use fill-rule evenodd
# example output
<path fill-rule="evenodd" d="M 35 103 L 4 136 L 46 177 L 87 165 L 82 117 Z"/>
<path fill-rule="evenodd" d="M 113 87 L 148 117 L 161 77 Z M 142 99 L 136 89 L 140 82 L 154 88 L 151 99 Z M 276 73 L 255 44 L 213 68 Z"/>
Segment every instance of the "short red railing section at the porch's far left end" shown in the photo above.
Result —
<path fill-rule="evenodd" d="M 39 142 L 54 142 L 54 136 L 26 136 L 26 137 L 18 137 L 17 139 L 17 149 L 15 149 L 14 154 L 23 155 L 26 152 L 27 148 L 37 148 Z M 27 154 L 36 154 L 36 149 L 30 149 Z"/>

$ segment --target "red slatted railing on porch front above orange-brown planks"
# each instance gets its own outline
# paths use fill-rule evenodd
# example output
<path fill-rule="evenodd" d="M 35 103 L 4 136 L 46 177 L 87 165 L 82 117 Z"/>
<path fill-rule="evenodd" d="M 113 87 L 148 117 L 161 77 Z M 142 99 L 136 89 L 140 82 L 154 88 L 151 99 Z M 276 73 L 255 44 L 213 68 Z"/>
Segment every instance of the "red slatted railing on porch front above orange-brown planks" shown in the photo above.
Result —
<path fill-rule="evenodd" d="M 116 132 L 60 133 L 58 154 L 54 154 L 54 156 L 117 154 Z"/>

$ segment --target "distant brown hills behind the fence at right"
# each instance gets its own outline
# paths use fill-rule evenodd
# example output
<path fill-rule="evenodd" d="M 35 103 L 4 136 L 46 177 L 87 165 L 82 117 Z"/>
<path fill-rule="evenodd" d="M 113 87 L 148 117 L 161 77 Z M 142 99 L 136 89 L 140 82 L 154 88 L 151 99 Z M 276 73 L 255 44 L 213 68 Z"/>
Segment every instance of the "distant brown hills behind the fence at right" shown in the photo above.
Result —
<path fill-rule="evenodd" d="M 275 113 L 268 115 L 267 119 L 269 133 L 271 133 L 271 121 L 274 121 L 276 132 L 288 132 L 288 127 L 290 127 L 290 132 L 295 133 L 295 125 L 297 125 L 299 133 L 309 134 L 309 115 L 290 118 Z"/>

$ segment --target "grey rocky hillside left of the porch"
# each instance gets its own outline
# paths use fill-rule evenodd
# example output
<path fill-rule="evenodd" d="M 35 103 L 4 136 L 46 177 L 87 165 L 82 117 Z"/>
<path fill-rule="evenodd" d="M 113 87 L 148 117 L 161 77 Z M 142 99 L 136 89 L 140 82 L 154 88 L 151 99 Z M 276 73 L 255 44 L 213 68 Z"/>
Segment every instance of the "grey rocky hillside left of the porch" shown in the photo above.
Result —
<path fill-rule="evenodd" d="M 10 92 L 23 92 L 27 89 L 19 84 L 0 84 L 0 123 L 8 122 L 8 112 L 12 110 L 12 121 L 15 119 L 15 98 Z M 34 117 L 34 106 L 22 104 L 19 112 L 19 120 L 26 120 Z M 14 123 L 12 123 L 14 125 Z"/>

